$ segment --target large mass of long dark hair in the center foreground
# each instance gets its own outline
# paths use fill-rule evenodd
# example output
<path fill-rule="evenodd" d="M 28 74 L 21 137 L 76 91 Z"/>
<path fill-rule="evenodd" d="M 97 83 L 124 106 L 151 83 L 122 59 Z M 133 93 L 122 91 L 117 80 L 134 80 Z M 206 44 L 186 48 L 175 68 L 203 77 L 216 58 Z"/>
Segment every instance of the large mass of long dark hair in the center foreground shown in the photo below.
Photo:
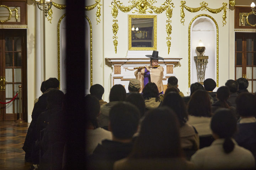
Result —
<path fill-rule="evenodd" d="M 181 152 L 177 117 L 162 107 L 148 112 L 128 158 L 177 158 L 182 157 Z"/>

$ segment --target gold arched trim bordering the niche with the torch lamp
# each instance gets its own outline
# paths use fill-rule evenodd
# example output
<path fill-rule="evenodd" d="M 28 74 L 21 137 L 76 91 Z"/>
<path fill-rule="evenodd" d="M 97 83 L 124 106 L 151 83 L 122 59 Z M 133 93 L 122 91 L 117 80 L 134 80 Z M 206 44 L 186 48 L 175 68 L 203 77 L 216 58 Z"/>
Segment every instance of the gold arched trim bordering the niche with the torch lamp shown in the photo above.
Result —
<path fill-rule="evenodd" d="M 217 70 L 216 70 L 216 74 L 217 74 L 217 87 L 219 87 L 219 27 L 218 27 L 218 24 L 217 22 L 215 21 L 215 19 L 210 16 L 210 15 L 207 15 L 207 14 L 200 14 L 200 15 L 197 15 L 195 16 L 190 24 L 189 24 L 189 27 L 188 27 L 188 87 L 190 87 L 190 42 L 191 42 L 191 34 L 190 34 L 190 31 L 191 31 L 191 25 L 193 23 L 193 21 L 198 18 L 198 17 L 201 17 L 201 16 L 206 16 L 206 17 L 209 17 L 210 19 L 212 19 L 212 21 L 215 23 L 215 26 L 216 26 L 216 32 L 217 32 L 217 37 L 216 37 L 216 42 L 217 42 L 217 49 L 216 49 L 216 57 L 217 57 Z"/>

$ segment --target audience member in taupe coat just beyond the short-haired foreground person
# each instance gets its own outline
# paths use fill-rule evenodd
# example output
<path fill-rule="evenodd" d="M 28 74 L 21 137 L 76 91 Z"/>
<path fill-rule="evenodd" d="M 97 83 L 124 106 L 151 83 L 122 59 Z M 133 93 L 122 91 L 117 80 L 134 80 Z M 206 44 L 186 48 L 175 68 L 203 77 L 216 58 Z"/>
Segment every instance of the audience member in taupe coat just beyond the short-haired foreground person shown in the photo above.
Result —
<path fill-rule="evenodd" d="M 119 101 L 125 101 L 126 100 L 126 90 L 124 89 L 124 86 L 121 84 L 113 85 L 113 87 L 110 90 L 110 96 L 109 96 L 109 103 L 103 104 L 100 108 L 101 114 L 98 118 L 98 125 L 101 128 L 104 128 L 107 130 L 108 123 L 109 123 L 109 112 L 110 109 L 117 104 Z"/>

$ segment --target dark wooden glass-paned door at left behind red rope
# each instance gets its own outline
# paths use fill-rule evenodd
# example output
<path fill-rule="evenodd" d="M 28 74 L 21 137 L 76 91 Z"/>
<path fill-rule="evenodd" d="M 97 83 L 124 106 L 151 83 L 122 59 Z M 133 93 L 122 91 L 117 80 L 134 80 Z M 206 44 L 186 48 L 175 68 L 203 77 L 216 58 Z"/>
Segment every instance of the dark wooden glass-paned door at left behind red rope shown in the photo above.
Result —
<path fill-rule="evenodd" d="M 27 106 L 26 30 L 0 30 L 0 102 L 11 101 L 22 86 L 22 119 Z M 19 116 L 19 95 L 10 103 L 0 104 L 0 121 L 17 120 Z"/>

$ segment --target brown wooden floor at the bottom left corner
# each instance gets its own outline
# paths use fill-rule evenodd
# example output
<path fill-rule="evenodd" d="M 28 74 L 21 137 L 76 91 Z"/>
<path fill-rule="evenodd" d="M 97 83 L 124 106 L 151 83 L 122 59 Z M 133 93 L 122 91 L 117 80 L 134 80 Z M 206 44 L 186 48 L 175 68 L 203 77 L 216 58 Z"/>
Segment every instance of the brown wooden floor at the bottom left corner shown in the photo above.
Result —
<path fill-rule="evenodd" d="M 0 170 L 29 170 L 22 150 L 29 123 L 0 121 Z"/>

